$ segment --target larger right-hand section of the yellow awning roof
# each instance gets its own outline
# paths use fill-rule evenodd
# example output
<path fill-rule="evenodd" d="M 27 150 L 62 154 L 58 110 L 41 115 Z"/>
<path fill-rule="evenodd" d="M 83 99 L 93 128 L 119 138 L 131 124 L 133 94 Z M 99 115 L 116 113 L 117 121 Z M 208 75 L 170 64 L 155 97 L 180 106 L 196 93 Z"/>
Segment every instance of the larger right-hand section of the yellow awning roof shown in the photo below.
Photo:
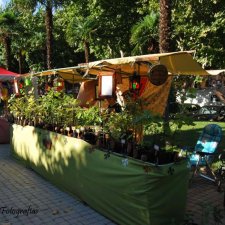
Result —
<path fill-rule="evenodd" d="M 173 75 L 210 75 L 193 58 L 194 51 L 170 52 L 151 55 L 131 56 L 124 58 L 106 59 L 80 64 L 89 74 L 98 75 L 100 71 L 114 70 L 123 76 L 130 76 L 136 70 L 140 75 L 147 75 L 151 66 L 163 64 Z M 139 64 L 139 66 L 137 65 Z"/>

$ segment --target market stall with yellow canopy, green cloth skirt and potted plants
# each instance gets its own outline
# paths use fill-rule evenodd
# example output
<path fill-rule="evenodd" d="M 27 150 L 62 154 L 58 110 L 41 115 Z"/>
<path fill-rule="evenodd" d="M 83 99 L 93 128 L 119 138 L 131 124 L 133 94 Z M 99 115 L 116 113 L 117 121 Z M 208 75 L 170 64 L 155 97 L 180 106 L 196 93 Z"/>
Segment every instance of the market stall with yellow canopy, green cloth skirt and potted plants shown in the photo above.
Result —
<path fill-rule="evenodd" d="M 133 132 L 130 136 L 135 136 L 134 141 L 138 140 L 138 135 L 140 140 L 141 125 L 149 119 L 145 110 L 157 115 L 164 114 L 173 75 L 208 75 L 193 59 L 191 52 L 101 60 L 73 68 L 43 71 L 32 74 L 32 77 L 51 75 L 71 83 L 82 83 L 76 99 L 79 101 L 74 105 L 72 99 L 54 92 L 49 92 L 50 95 L 42 98 L 50 99 L 54 103 L 41 115 L 42 122 L 44 115 L 47 117 L 46 123 L 64 122 L 66 133 L 63 129 L 61 132 L 61 128 L 61 133 L 59 132 L 58 123 L 49 131 L 46 124 L 42 123 L 40 129 L 36 127 L 36 122 L 33 126 L 21 126 L 19 121 L 20 125 L 14 124 L 11 127 L 13 156 L 118 224 L 181 224 L 186 207 L 189 174 L 185 159 L 173 157 L 172 161 L 161 164 L 158 158 L 154 162 L 137 159 L 134 153 L 129 155 L 123 148 L 122 151 L 112 151 L 107 138 L 115 124 L 109 126 L 107 136 L 103 129 L 101 135 L 104 136 L 98 138 L 99 143 L 88 143 L 87 139 L 81 138 L 81 133 L 84 135 L 87 131 L 83 128 L 84 125 L 87 125 L 88 130 L 102 125 L 99 112 L 102 113 L 105 100 L 116 96 L 124 107 L 127 103 L 126 95 L 131 93 L 129 96 L 135 106 L 137 100 L 145 103 L 141 105 L 141 110 L 134 110 L 143 112 L 141 116 L 145 120 L 136 120 L 134 123 L 133 119 L 140 116 L 135 114 L 130 122 L 130 114 L 122 111 L 113 114 L 113 117 L 106 114 L 110 119 L 106 118 L 104 126 L 107 121 L 112 119 L 112 122 L 113 118 L 118 116 L 115 122 L 118 125 L 127 123 L 127 126 L 122 128 L 126 132 Z M 52 96 L 53 98 L 50 98 Z M 60 97 L 64 98 L 63 103 L 58 101 Z M 28 102 L 35 103 L 35 100 Z M 47 103 L 45 101 L 43 107 Z M 68 105 L 72 106 L 72 110 L 63 111 Z M 83 106 L 85 108 L 82 108 Z M 97 111 L 91 106 L 98 106 L 101 110 Z M 29 115 L 29 119 L 34 118 L 35 104 L 27 108 L 33 111 L 24 115 Z M 53 115 L 53 111 L 59 112 Z M 66 117 L 63 117 L 65 114 Z M 69 115 L 73 119 L 68 122 Z M 93 115 L 97 120 L 90 120 Z M 146 115 L 147 117 L 144 117 Z M 130 124 L 133 129 L 130 129 Z M 115 133 L 118 133 L 117 130 Z M 128 138 L 125 140 L 119 137 L 119 140 L 123 147 L 125 144 L 128 146 Z M 159 150 L 157 146 L 154 148 L 155 152 Z"/>

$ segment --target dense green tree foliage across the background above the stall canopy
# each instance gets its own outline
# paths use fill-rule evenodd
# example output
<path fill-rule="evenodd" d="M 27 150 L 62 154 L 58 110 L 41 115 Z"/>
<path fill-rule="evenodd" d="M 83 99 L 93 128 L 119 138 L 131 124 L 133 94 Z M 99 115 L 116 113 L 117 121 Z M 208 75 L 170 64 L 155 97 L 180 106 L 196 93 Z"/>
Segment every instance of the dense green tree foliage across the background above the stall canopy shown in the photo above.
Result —
<path fill-rule="evenodd" d="M 158 46 L 159 42 L 158 16 L 151 14 L 159 14 L 157 0 L 15 0 L 0 12 L 0 21 L 6 25 L 7 19 L 8 26 L 1 26 L 0 37 L 11 37 L 14 71 L 18 71 L 18 63 L 24 73 L 31 67 L 39 71 L 46 69 L 46 3 L 54 7 L 53 64 L 56 68 L 83 62 L 84 40 L 89 44 L 92 61 L 120 57 L 121 52 L 125 56 L 157 52 L 152 46 Z M 173 49 L 195 49 L 196 59 L 205 68 L 224 68 L 223 6 L 224 0 L 172 1 Z M 3 48 L 1 45 L 0 58 L 4 62 Z"/>

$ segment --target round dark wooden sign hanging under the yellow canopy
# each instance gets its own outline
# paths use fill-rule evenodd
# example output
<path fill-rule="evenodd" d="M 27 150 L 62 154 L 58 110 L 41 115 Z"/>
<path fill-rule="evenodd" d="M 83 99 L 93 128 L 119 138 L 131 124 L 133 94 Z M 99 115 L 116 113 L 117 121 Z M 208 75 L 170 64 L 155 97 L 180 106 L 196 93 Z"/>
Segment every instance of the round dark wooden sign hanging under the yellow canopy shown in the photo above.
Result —
<path fill-rule="evenodd" d="M 152 84 L 160 86 L 166 82 L 167 78 L 168 78 L 168 70 L 166 66 L 158 64 L 151 67 L 149 71 L 149 81 Z"/>

